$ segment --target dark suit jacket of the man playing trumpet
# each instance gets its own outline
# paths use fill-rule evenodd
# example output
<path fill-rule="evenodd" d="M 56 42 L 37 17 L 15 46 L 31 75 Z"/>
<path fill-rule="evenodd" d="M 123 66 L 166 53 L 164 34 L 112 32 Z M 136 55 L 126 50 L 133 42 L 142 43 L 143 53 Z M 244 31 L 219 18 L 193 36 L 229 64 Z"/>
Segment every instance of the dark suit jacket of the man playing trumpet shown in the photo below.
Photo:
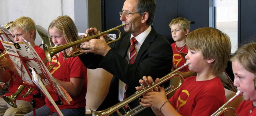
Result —
<path fill-rule="evenodd" d="M 140 86 L 139 80 L 142 76 L 152 76 L 154 80 L 161 78 L 171 72 L 172 68 L 172 48 L 170 43 L 157 34 L 154 28 L 150 31 L 136 56 L 134 64 L 128 64 L 126 53 L 130 46 L 131 33 L 122 32 L 121 39 L 112 43 L 110 51 L 105 57 L 94 54 L 79 56 L 84 66 L 90 69 L 104 68 L 114 75 L 110 82 L 110 89 L 103 103 L 97 111 L 109 108 L 118 102 L 118 80 L 128 84 L 126 90 L 127 98 L 136 92 L 135 87 Z M 166 86 L 169 82 L 166 82 Z M 130 107 L 139 105 L 138 100 L 131 102 Z M 151 110 L 151 109 L 150 109 Z M 152 112 L 142 113 L 145 116 L 153 115 Z M 138 114 L 138 116 L 142 116 Z"/>

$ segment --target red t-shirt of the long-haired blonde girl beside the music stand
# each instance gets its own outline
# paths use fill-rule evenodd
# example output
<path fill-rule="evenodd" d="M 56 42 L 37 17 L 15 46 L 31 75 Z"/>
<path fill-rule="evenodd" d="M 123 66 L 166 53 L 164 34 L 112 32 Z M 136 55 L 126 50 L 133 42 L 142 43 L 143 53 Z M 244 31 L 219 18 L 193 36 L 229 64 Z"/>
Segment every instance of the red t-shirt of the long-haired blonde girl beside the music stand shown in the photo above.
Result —
<path fill-rule="evenodd" d="M 55 63 L 56 58 L 52 60 L 52 64 Z M 68 59 L 64 59 L 63 54 L 60 53 L 58 57 L 58 63 L 54 66 L 54 68 L 50 71 L 54 78 L 57 78 L 62 81 L 70 82 L 71 77 L 80 77 L 84 78 L 82 90 L 78 96 L 71 96 L 73 101 L 70 104 L 58 105 L 60 109 L 68 109 L 68 108 L 81 108 L 86 106 L 86 92 L 87 92 L 87 68 L 84 66 L 79 57 L 71 57 Z M 54 101 L 58 101 L 58 96 L 50 92 Z M 51 108 L 50 101 L 48 98 L 45 99 L 46 106 Z M 53 112 L 56 112 L 54 109 Z"/>

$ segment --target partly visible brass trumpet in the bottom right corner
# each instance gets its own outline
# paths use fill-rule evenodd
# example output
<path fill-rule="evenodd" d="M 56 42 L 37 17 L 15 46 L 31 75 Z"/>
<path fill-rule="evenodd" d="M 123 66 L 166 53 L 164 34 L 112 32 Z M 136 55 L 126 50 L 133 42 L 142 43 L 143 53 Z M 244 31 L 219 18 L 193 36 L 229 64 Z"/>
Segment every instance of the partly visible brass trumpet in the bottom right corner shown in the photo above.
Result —
<path fill-rule="evenodd" d="M 220 106 L 220 108 L 214 112 L 211 116 L 220 116 L 221 114 L 223 114 L 224 112 L 231 110 L 234 112 L 234 115 L 237 116 L 237 112 L 236 109 L 233 107 L 226 107 L 230 102 L 232 102 L 236 97 L 242 95 L 242 92 L 240 92 L 239 90 L 236 92 L 236 94 L 230 98 L 225 104 L 223 104 L 222 106 Z"/>

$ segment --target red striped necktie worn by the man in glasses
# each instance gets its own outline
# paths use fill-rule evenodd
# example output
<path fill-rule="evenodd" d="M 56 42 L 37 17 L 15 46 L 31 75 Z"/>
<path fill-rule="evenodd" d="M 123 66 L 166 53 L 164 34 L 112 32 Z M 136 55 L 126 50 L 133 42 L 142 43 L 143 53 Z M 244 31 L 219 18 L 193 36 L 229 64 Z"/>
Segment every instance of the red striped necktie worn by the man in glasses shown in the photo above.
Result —
<path fill-rule="evenodd" d="M 131 39 L 131 46 L 130 46 L 130 64 L 133 64 L 136 59 L 136 49 L 135 49 L 135 44 L 137 43 L 137 40 L 133 37 Z M 124 89 L 124 99 L 126 98 L 126 89 L 127 89 L 127 84 L 125 84 L 125 89 Z M 128 105 L 125 105 L 125 108 L 128 108 Z"/>

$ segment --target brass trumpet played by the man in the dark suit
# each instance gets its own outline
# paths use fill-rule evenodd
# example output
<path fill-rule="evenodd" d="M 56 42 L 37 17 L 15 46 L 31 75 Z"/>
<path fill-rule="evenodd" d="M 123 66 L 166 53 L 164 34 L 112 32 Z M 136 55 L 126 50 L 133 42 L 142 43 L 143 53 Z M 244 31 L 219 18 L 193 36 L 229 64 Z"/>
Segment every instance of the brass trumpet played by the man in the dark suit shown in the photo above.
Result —
<path fill-rule="evenodd" d="M 68 44 L 65 44 L 65 45 L 62 45 L 62 46 L 58 46 L 58 47 L 47 47 L 45 44 L 43 44 L 43 48 L 44 48 L 44 53 L 45 53 L 45 56 L 47 58 L 47 60 L 50 62 L 51 61 L 51 58 L 52 56 L 54 56 L 55 54 L 57 54 L 58 52 L 61 52 L 63 50 L 66 50 L 67 48 L 70 48 L 72 46 L 76 46 L 78 44 L 81 44 L 82 42 L 86 42 L 88 40 L 91 40 L 93 38 L 97 38 L 99 36 L 102 36 L 104 34 L 107 34 L 109 32 L 112 32 L 114 30 L 118 31 L 118 38 L 116 38 L 115 40 L 111 41 L 111 42 L 107 42 L 107 44 L 111 44 L 113 42 L 116 42 L 118 40 L 120 40 L 121 38 L 121 32 L 120 30 L 118 30 L 118 28 L 122 27 L 122 26 L 125 26 L 125 24 L 121 24 L 119 26 L 116 26 L 110 30 L 107 30 L 107 31 L 104 31 L 104 32 L 101 32 L 101 33 L 98 33 L 98 34 L 95 34 L 95 35 L 92 35 L 92 36 L 88 36 L 84 39 L 81 39 L 81 40 L 77 40 L 75 42 L 71 42 L 71 43 L 68 43 Z M 82 53 L 80 53 L 80 51 L 82 50 L 82 48 L 76 50 L 73 54 L 71 54 L 70 56 L 68 56 L 67 54 L 65 54 L 66 52 L 64 52 L 64 57 L 65 58 L 69 58 L 69 57 L 76 57 L 76 56 L 79 56 L 81 55 Z"/>

